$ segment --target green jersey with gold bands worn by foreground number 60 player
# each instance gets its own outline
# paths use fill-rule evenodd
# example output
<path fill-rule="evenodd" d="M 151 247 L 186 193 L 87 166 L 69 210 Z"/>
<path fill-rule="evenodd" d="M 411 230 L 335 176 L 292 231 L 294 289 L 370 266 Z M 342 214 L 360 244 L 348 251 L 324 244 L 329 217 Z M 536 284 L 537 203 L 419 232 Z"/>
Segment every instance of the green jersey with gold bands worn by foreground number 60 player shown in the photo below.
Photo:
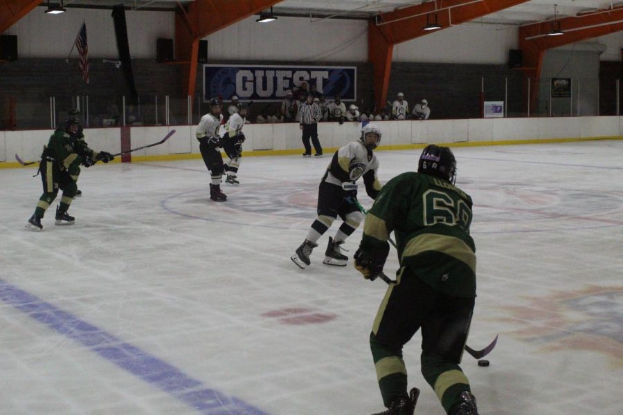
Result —
<path fill-rule="evenodd" d="M 469 236 L 471 197 L 440 178 L 404 173 L 383 186 L 363 225 L 362 248 L 393 231 L 401 267 L 453 297 L 476 297 L 476 246 Z"/>

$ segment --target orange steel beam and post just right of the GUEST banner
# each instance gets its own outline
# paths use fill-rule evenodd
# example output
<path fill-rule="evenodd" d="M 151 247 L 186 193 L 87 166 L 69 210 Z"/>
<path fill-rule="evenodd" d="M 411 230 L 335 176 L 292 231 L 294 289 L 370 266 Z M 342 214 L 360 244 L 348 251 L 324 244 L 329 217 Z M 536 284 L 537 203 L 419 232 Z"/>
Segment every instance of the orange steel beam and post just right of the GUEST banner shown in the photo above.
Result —
<path fill-rule="evenodd" d="M 443 28 L 478 19 L 529 0 L 438 0 L 410 6 L 378 15 L 368 25 L 368 60 L 374 69 L 374 100 L 377 108 L 384 108 L 391 70 L 392 50 L 395 44 L 433 31 L 424 30 L 426 15 L 437 13 Z"/>

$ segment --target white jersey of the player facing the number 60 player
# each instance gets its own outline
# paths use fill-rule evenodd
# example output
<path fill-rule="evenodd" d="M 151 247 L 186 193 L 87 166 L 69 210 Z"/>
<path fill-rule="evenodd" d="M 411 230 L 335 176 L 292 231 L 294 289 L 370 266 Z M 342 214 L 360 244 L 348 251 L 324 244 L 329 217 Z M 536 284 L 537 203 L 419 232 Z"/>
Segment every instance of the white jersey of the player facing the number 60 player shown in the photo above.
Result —
<path fill-rule="evenodd" d="M 342 186 L 342 183 L 355 183 L 363 176 L 365 191 L 372 199 L 381 190 L 381 183 L 377 177 L 379 160 L 368 150 L 363 142 L 352 141 L 335 152 L 323 181 Z"/>

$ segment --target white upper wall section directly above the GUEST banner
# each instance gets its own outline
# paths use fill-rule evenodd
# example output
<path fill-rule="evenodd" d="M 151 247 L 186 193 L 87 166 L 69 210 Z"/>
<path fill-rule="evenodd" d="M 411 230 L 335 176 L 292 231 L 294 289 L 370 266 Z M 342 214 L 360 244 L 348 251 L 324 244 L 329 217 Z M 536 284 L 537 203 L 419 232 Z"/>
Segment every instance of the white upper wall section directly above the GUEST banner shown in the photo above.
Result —
<path fill-rule="evenodd" d="M 258 24 L 248 17 L 206 37 L 208 59 L 367 62 L 368 22 L 279 17 Z"/>

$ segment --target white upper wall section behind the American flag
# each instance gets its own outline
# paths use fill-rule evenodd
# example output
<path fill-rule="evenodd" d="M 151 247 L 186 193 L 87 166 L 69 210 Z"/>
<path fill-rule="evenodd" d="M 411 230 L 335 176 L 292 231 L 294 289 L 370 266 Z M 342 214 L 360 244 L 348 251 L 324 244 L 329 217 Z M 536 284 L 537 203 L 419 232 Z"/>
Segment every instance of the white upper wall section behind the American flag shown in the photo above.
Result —
<path fill-rule="evenodd" d="M 111 10 L 68 8 L 60 15 L 47 15 L 44 10 L 35 8 L 3 33 L 17 35 L 19 57 L 67 57 L 82 21 L 87 23 L 89 57 L 118 57 Z M 133 58 L 156 57 L 156 39 L 174 37 L 172 12 L 126 11 L 125 19 Z M 72 56 L 78 56 L 75 49 Z"/>

